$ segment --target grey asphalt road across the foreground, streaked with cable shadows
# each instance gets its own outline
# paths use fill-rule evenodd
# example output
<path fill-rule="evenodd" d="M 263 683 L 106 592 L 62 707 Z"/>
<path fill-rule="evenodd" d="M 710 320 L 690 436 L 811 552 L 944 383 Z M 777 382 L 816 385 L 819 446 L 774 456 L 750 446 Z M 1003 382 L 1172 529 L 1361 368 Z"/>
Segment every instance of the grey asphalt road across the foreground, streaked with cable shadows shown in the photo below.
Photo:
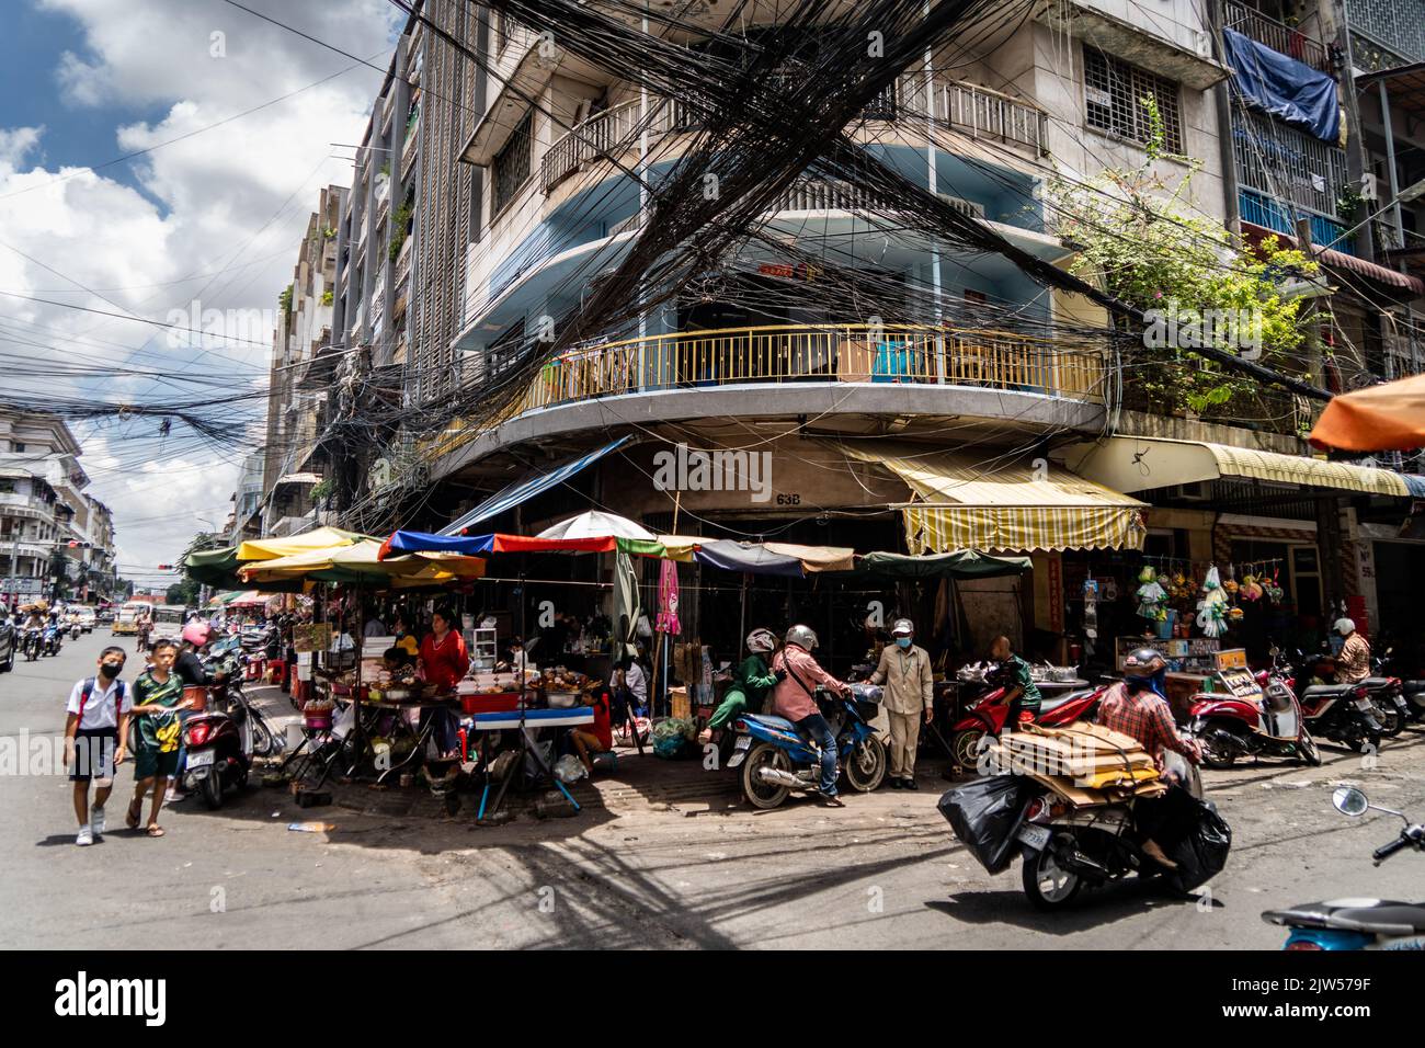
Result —
<path fill-rule="evenodd" d="M 57 659 L 0 674 L 0 947 L 781 947 L 781 948 L 1280 948 L 1265 908 L 1341 895 L 1425 895 L 1425 857 L 1381 868 L 1369 853 L 1395 820 L 1348 820 L 1331 787 L 1425 817 L 1425 731 L 1388 741 L 1375 769 L 1327 750 L 1327 766 L 1208 773 L 1234 830 L 1210 898 L 1181 901 L 1133 881 L 1072 911 L 1030 910 L 1017 864 L 989 877 L 915 794 L 851 797 L 844 810 L 772 813 L 725 801 L 644 804 L 477 828 L 453 820 L 296 808 L 251 788 L 211 813 L 167 810 L 168 836 L 123 828 L 131 766 L 108 836 L 74 846 L 60 769 L 28 774 L 16 750 L 53 746 L 74 680 L 94 672 L 107 629 Z M 131 644 L 130 644 L 131 646 Z M 125 673 L 133 679 L 135 666 Z M 36 740 L 40 740 L 36 743 Z M 587 787 L 586 787 L 587 788 Z M 294 833 L 294 821 L 336 824 Z"/>

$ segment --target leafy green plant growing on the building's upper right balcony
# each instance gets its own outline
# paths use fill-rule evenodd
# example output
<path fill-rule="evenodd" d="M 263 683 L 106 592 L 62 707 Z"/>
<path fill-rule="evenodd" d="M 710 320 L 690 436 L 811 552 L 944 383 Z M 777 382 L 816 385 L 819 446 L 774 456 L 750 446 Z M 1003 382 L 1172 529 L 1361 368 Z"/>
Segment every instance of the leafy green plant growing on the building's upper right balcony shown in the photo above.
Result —
<path fill-rule="evenodd" d="M 1204 342 L 1235 352 L 1247 335 L 1253 349 L 1260 349 L 1260 364 L 1300 372 L 1311 322 L 1301 299 L 1282 297 L 1281 284 L 1314 275 L 1317 264 L 1300 251 L 1282 250 L 1275 238 L 1248 251 L 1217 218 L 1198 211 L 1190 188 L 1201 164 L 1167 154 L 1157 106 L 1151 98 L 1143 98 L 1143 106 L 1151 133 L 1141 164 L 1107 168 L 1083 183 L 1054 178 L 1047 185 L 1054 231 L 1077 251 L 1069 271 L 1143 311 L 1250 317 L 1247 329 L 1203 325 Z M 1156 171 L 1163 158 L 1187 164 L 1176 185 Z M 1255 379 L 1181 345 L 1134 349 L 1127 375 L 1159 411 L 1235 422 L 1264 418 Z"/>

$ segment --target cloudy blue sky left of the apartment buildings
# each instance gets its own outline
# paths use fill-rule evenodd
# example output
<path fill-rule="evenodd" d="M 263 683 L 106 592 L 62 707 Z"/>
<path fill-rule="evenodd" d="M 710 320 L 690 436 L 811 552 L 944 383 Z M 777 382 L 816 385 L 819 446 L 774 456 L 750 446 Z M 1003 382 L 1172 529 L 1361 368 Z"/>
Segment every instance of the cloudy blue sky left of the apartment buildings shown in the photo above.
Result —
<path fill-rule="evenodd" d="M 386 0 L 242 3 L 382 68 L 405 17 Z M 275 311 L 321 188 L 351 181 L 352 150 L 332 143 L 359 141 L 380 73 L 224 0 L 4 0 L 0 78 L 0 355 L 40 365 L 6 385 L 152 404 L 195 394 L 165 379 L 177 374 L 258 394 L 266 345 L 190 345 L 71 307 Z M 154 419 L 74 426 L 123 575 L 161 582 L 154 567 L 204 520 L 221 526 L 244 418 L 264 409 L 234 408 L 225 446 L 181 423 L 161 438 Z"/>

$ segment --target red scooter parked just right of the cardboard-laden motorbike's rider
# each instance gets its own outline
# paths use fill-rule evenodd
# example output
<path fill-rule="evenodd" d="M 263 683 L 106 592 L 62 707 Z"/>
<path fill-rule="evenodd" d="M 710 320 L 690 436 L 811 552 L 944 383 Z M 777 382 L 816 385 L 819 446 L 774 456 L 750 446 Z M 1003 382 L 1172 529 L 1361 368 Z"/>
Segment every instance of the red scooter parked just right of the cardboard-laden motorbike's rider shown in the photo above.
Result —
<path fill-rule="evenodd" d="M 1321 750 L 1307 730 L 1290 677 L 1274 659 L 1257 674 L 1257 696 L 1198 694 L 1188 710 L 1188 733 L 1203 744 L 1203 763 L 1230 769 L 1238 757 L 1292 757 L 1321 766 Z"/>

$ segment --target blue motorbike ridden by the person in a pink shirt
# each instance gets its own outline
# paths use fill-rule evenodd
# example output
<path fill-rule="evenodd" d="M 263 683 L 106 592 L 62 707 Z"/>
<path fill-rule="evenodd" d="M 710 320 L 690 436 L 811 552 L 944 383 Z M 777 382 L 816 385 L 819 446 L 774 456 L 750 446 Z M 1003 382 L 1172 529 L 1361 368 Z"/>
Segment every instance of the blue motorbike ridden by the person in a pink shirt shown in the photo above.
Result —
<path fill-rule="evenodd" d="M 817 706 L 836 739 L 836 774 L 846 786 L 869 793 L 886 774 L 885 746 L 868 723 L 875 717 L 881 689 L 852 684 L 849 696 L 824 687 Z M 821 747 L 785 717 L 745 713 L 734 723 L 737 741 L 727 766 L 740 769 L 742 796 L 758 808 L 775 808 L 792 793 L 817 793 L 821 786 Z"/>

